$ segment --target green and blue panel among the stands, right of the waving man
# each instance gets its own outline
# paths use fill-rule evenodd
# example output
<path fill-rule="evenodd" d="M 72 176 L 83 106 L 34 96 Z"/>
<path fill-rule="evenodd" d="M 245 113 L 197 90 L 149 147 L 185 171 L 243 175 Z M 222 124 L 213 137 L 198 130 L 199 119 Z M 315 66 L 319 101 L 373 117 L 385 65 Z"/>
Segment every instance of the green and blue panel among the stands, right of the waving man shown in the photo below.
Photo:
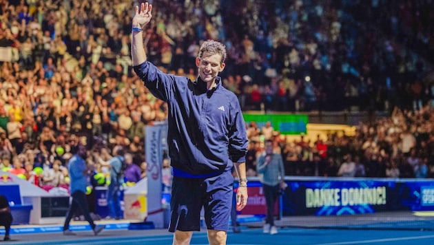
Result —
<path fill-rule="evenodd" d="M 270 121 L 274 130 L 280 134 L 307 134 L 307 115 L 295 114 L 242 114 L 245 122 L 256 122 L 259 128 Z"/>

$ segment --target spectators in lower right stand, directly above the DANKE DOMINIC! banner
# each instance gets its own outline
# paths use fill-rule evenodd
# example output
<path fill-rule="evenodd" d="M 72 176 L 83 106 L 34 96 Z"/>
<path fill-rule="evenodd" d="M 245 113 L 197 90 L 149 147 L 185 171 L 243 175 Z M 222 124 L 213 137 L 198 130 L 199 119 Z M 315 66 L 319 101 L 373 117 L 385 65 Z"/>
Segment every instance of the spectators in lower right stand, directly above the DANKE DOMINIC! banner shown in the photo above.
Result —
<path fill-rule="evenodd" d="M 269 122 L 249 122 L 247 175 L 256 175 L 263 141 L 271 139 L 281 153 L 286 175 L 434 178 L 434 114 L 430 105 L 417 111 L 397 107 L 390 117 L 360 123 L 354 136 L 328 134 L 316 139 L 287 140 Z"/>

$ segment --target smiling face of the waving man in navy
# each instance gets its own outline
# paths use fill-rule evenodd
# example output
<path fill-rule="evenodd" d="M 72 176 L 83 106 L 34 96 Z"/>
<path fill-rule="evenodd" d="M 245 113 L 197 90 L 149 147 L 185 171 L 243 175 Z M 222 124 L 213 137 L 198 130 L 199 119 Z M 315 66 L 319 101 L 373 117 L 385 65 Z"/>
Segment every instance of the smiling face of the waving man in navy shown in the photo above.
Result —
<path fill-rule="evenodd" d="M 202 58 L 196 58 L 196 66 L 202 81 L 211 83 L 216 79 L 218 72 L 223 71 L 225 63 L 221 63 L 222 56 L 220 54 L 209 54 L 204 52 Z"/>

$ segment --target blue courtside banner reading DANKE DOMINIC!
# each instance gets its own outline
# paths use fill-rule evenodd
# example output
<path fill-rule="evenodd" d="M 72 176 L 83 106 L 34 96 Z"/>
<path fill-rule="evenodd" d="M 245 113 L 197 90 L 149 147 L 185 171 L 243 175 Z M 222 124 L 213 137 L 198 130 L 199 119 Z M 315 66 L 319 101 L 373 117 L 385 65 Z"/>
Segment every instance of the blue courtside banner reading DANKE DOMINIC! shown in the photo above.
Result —
<path fill-rule="evenodd" d="M 415 179 L 285 178 L 286 215 L 348 215 L 434 209 L 434 182 Z"/>

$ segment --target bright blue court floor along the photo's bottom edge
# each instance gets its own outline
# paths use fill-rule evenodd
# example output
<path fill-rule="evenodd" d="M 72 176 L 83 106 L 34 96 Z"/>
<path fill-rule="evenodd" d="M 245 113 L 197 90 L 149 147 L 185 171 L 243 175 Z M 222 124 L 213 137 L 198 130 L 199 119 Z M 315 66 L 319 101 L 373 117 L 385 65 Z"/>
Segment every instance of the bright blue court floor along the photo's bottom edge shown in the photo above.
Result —
<path fill-rule="evenodd" d="M 335 230 L 324 228 L 279 228 L 278 231 L 279 233 L 276 235 L 269 235 L 262 233 L 261 228 L 242 226 L 241 233 L 228 233 L 227 244 L 434 244 L 433 231 Z M 165 229 L 109 228 L 98 236 L 85 229 L 77 231 L 76 234 L 75 236 L 64 236 L 60 231 L 15 233 L 11 235 L 12 241 L 0 242 L 0 244 L 172 244 L 172 233 Z M 208 244 L 206 231 L 195 232 L 191 244 Z"/>

